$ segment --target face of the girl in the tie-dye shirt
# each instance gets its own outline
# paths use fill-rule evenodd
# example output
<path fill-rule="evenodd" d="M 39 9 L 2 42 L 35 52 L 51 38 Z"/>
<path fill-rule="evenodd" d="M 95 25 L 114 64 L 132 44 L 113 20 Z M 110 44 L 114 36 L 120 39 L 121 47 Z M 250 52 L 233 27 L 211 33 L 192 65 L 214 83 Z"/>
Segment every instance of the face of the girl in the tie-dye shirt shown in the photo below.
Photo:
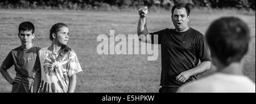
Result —
<path fill-rule="evenodd" d="M 60 45 L 67 45 L 68 33 L 68 27 L 61 27 L 60 31 L 57 32 L 56 41 L 58 41 Z"/>

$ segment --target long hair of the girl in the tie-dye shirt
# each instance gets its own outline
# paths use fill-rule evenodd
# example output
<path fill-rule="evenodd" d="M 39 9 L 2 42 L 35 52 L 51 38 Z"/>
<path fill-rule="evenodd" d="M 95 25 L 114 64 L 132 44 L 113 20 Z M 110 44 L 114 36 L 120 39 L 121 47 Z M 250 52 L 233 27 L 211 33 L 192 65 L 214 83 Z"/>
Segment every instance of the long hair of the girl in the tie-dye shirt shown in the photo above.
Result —
<path fill-rule="evenodd" d="M 62 27 L 68 27 L 68 25 L 64 24 L 64 23 L 56 23 L 56 24 L 52 25 L 52 28 L 50 29 L 50 35 L 49 35 L 49 38 L 51 41 L 53 40 L 52 33 L 57 34 L 57 32 L 59 32 L 60 28 L 62 28 Z M 67 45 L 61 45 L 59 55 L 63 56 L 65 54 L 67 54 L 69 51 L 71 51 L 70 47 L 68 47 Z"/>

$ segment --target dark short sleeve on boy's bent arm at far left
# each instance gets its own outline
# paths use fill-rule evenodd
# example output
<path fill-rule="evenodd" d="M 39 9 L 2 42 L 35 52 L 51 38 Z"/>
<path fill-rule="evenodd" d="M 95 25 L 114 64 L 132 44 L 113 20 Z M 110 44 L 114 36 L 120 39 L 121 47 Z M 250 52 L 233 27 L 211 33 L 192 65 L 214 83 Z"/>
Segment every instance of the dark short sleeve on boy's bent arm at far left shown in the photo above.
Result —
<path fill-rule="evenodd" d="M 11 66 L 13 66 L 13 64 L 14 64 L 13 54 L 10 51 L 10 53 L 7 55 L 5 60 L 3 60 L 2 67 L 5 70 L 8 70 Z"/>

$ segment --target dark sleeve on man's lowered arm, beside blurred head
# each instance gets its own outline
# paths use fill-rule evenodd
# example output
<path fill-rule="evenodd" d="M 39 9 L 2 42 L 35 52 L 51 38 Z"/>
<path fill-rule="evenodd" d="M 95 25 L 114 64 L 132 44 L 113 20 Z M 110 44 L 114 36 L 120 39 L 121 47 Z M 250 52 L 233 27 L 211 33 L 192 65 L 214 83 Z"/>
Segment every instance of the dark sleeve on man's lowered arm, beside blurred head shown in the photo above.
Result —
<path fill-rule="evenodd" d="M 197 42 L 197 57 L 201 62 L 211 61 L 208 45 L 205 42 L 205 37 L 200 37 Z"/>

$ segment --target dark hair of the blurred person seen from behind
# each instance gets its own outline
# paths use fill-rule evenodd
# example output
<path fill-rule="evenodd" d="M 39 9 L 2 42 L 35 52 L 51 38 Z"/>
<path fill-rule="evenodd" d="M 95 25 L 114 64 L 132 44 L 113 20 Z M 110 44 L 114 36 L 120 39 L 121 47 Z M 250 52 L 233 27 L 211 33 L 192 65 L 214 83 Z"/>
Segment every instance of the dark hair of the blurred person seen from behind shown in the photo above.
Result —
<path fill-rule="evenodd" d="M 240 62 L 247 53 L 250 30 L 246 23 L 235 17 L 224 17 L 213 21 L 205 34 L 212 57 L 228 66 Z"/>

